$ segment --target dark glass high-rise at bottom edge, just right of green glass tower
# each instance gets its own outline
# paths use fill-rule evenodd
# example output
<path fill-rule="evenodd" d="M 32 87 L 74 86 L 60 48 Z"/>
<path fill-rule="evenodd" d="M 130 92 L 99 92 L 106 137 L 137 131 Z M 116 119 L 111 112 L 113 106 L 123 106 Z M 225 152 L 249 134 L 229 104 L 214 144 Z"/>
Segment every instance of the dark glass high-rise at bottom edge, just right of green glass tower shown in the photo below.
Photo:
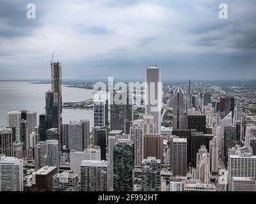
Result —
<path fill-rule="evenodd" d="M 147 157 L 141 162 L 141 190 L 161 191 L 161 161 Z"/>

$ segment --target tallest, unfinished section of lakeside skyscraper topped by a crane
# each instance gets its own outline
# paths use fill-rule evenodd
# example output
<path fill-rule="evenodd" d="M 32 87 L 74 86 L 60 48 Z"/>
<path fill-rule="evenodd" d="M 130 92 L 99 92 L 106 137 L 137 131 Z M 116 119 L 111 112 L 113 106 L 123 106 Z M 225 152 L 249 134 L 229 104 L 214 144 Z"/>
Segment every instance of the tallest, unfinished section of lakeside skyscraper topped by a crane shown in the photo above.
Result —
<path fill-rule="evenodd" d="M 51 92 L 53 93 L 53 106 L 57 107 L 57 126 L 53 128 L 58 128 L 58 133 L 61 132 L 61 113 L 62 113 L 62 73 L 61 73 L 61 62 L 51 62 Z M 54 123 L 54 121 L 53 121 Z M 59 140 L 60 142 L 60 140 Z"/>

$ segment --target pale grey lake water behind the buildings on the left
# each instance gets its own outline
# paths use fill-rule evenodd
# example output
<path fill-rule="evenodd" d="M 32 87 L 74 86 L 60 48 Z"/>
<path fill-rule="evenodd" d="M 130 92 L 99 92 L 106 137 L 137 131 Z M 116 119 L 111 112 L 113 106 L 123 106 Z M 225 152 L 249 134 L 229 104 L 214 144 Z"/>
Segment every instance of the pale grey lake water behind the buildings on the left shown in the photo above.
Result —
<path fill-rule="evenodd" d="M 30 82 L 0 82 L 0 126 L 6 126 L 7 112 L 11 110 L 30 110 L 40 114 L 45 113 L 45 92 L 51 89 L 51 84 L 30 84 Z M 62 87 L 62 101 L 83 101 L 93 98 L 93 90 Z M 90 120 L 93 125 L 93 109 L 64 109 L 63 123 L 70 120 Z M 37 122 L 38 123 L 38 122 Z"/>

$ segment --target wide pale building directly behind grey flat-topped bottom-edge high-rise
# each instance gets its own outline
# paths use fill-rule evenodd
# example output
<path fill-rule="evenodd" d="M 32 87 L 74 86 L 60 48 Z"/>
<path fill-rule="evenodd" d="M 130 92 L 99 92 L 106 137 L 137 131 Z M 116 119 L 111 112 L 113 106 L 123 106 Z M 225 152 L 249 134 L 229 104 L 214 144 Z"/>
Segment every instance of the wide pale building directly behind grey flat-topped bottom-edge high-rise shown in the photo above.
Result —
<path fill-rule="evenodd" d="M 95 146 L 93 148 L 88 147 L 83 152 L 71 150 L 70 151 L 70 169 L 73 173 L 81 173 L 81 161 L 100 161 L 100 147 Z"/>

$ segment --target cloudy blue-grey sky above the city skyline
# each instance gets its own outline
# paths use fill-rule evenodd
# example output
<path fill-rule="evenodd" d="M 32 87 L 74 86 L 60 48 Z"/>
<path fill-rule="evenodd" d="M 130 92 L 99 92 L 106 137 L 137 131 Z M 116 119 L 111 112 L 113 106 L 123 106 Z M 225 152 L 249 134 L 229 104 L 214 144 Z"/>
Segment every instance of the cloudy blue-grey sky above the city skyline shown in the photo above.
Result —
<path fill-rule="evenodd" d="M 50 78 L 53 50 L 65 79 L 256 78 L 256 1 L 0 1 L 0 79 Z"/>

